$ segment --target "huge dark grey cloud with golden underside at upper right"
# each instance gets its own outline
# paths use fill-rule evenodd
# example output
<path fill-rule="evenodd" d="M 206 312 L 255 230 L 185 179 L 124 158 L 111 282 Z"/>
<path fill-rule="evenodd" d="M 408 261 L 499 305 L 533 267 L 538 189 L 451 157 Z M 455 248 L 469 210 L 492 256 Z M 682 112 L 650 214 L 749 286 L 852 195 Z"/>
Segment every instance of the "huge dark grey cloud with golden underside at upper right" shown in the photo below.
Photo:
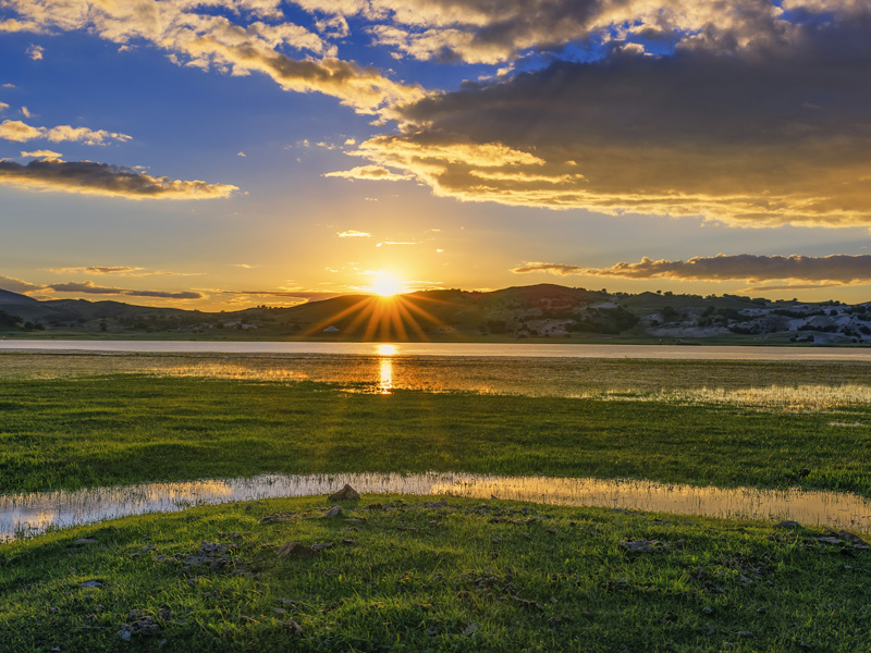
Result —
<path fill-rule="evenodd" d="M 741 48 L 467 83 L 354 153 L 437 196 L 735 226 L 869 226 L 871 11 Z"/>

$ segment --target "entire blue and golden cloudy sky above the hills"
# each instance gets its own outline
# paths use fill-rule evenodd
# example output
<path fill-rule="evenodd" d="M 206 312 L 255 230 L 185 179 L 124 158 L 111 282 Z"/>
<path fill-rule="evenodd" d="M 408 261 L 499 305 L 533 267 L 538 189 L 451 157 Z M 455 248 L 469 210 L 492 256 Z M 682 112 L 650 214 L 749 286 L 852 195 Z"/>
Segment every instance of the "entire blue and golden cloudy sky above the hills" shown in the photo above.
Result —
<path fill-rule="evenodd" d="M 867 0 L 0 0 L 0 288 L 871 300 Z"/>

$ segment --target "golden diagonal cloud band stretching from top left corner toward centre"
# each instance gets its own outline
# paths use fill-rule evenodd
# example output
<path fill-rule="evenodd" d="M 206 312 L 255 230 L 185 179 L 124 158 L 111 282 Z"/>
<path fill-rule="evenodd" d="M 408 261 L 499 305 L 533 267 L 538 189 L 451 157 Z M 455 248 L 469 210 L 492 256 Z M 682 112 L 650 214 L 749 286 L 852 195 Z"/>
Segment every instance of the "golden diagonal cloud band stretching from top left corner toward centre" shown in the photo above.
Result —
<path fill-rule="evenodd" d="M 322 93 L 364 113 L 422 97 L 418 87 L 394 83 L 371 67 L 335 58 L 335 47 L 284 19 L 280 3 L 232 0 L 7 0 L 15 27 L 52 33 L 87 30 L 114 44 L 145 40 L 181 65 L 232 75 L 262 73 L 286 90 Z M 225 15 L 216 12 L 224 10 Z M 269 17 L 270 22 L 262 19 Z M 280 21 L 278 23 L 273 21 Z M 283 49 L 319 59 L 294 59 Z"/>

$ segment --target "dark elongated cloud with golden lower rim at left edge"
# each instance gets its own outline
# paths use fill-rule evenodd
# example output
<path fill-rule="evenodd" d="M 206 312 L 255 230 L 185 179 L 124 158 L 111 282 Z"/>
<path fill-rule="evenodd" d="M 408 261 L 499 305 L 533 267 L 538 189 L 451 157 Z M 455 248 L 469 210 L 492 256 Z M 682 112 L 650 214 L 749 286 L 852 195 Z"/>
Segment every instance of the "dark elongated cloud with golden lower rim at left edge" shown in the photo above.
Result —
<path fill-rule="evenodd" d="M 36 190 L 61 190 L 127 199 L 212 199 L 238 188 L 229 184 L 154 177 L 146 172 L 91 161 L 0 161 L 0 184 Z"/>

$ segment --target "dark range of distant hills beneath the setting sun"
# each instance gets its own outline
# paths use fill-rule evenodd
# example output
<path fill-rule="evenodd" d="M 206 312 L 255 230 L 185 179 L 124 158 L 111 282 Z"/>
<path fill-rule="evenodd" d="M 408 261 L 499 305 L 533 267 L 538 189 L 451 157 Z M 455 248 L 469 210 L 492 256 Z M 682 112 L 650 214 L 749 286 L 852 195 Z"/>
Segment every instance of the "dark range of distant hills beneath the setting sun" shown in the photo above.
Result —
<path fill-rule="evenodd" d="M 7 336 L 330 341 L 871 344 L 871 305 L 738 295 L 610 294 L 554 284 L 345 295 L 292 308 L 200 312 L 0 291 Z"/>

